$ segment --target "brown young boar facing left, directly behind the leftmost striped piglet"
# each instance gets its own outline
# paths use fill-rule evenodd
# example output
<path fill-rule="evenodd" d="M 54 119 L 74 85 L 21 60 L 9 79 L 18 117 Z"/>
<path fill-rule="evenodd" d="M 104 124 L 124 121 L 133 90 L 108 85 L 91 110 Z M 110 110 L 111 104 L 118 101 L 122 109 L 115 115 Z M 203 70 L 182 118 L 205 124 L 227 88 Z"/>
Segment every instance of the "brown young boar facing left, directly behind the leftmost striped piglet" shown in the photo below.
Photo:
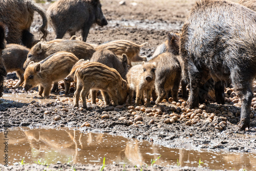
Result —
<path fill-rule="evenodd" d="M 51 54 L 60 51 L 73 53 L 78 59 L 90 59 L 95 52 L 91 45 L 79 40 L 52 40 L 51 43 L 38 42 L 29 51 L 23 67 L 26 68 L 31 61 L 41 61 Z"/>

